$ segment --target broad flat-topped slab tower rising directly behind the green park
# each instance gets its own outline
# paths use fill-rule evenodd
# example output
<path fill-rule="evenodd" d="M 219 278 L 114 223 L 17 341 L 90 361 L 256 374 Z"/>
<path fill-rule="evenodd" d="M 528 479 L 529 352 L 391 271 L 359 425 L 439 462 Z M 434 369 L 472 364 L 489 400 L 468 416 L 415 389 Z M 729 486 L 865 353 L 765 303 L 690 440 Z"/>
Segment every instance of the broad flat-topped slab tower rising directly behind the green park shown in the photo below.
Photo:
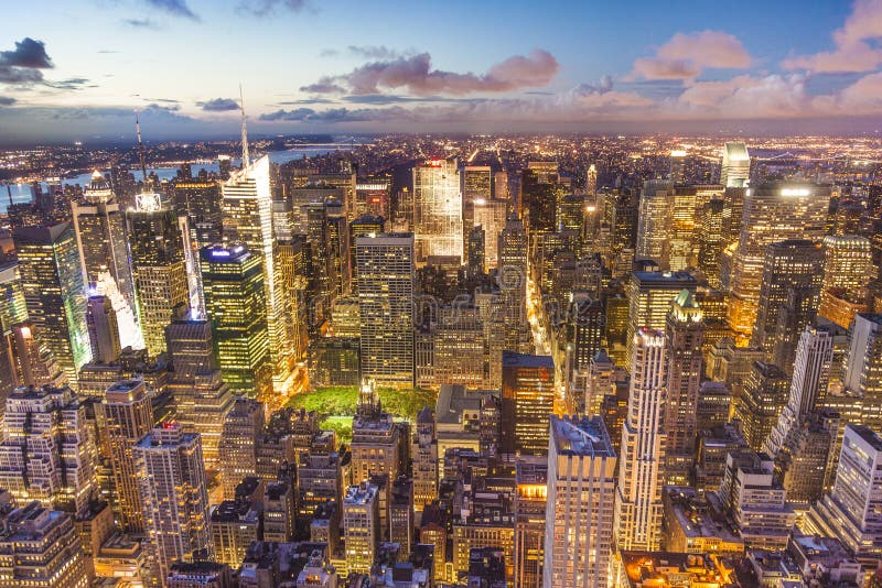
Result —
<path fill-rule="evenodd" d="M 355 241 L 362 317 L 362 380 L 413 385 L 413 236 Z"/>

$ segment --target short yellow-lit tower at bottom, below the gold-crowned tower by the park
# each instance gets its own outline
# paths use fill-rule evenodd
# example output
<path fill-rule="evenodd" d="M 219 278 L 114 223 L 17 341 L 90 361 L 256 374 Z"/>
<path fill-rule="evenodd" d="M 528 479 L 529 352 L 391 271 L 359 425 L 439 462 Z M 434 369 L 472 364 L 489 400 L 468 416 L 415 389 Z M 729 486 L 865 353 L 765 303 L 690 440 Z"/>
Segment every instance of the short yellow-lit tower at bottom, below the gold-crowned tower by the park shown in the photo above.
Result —
<path fill-rule="evenodd" d="M 343 534 L 349 574 L 369 574 L 380 540 L 377 487 L 351 486 L 343 498 Z"/>

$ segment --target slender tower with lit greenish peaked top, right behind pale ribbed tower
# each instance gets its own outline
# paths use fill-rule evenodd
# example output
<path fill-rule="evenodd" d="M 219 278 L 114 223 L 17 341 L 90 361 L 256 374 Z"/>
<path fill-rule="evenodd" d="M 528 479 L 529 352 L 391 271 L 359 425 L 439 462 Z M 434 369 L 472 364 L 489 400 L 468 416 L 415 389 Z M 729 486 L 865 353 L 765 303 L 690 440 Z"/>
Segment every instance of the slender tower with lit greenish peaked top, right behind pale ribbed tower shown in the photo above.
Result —
<path fill-rule="evenodd" d="M 674 298 L 665 327 L 667 345 L 667 398 L 664 431 L 665 479 L 686 486 L 695 458 L 699 388 L 701 385 L 701 345 L 704 323 L 699 305 L 688 290 Z"/>

